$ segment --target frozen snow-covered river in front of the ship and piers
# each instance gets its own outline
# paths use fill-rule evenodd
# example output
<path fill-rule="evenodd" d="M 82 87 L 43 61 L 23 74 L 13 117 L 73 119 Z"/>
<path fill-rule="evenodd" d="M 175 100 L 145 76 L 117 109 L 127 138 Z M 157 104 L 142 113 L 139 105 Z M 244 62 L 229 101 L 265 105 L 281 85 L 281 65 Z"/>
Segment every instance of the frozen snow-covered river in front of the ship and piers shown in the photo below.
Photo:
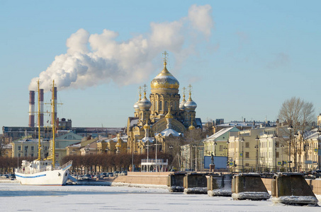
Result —
<path fill-rule="evenodd" d="M 170 193 L 167 189 L 18 183 L 0 183 L 0 207 L 1 211 L 321 211 L 320 207 L 233 201 L 231 197 Z"/>

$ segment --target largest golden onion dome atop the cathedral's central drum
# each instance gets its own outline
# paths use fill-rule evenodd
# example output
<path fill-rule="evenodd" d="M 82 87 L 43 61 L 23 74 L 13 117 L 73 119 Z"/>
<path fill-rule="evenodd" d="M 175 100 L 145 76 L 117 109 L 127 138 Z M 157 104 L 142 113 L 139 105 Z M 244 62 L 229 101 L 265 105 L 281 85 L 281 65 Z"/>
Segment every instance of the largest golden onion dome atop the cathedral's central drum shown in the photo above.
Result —
<path fill-rule="evenodd" d="M 159 73 L 150 83 L 152 89 L 179 89 L 179 81 L 169 73 L 166 68 L 166 61 L 164 62 L 164 69 Z"/>

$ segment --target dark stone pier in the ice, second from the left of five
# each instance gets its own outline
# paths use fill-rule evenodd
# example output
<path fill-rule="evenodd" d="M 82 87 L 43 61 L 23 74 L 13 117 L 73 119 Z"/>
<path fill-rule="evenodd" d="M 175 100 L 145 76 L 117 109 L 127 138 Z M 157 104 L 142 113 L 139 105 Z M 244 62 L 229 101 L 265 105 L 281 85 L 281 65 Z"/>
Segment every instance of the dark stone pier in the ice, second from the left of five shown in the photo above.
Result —
<path fill-rule="evenodd" d="M 203 173 L 188 173 L 184 177 L 185 194 L 207 194 L 207 179 Z"/>

